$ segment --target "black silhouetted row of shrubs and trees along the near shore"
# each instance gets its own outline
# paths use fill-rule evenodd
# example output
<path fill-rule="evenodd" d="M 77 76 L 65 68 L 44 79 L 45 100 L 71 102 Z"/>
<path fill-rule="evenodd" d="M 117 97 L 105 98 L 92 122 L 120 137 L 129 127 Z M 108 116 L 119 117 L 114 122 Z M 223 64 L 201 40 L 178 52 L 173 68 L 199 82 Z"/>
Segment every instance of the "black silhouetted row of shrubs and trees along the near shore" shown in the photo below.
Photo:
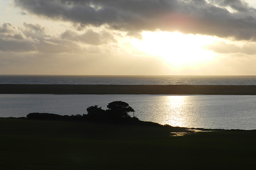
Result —
<path fill-rule="evenodd" d="M 147 125 L 147 126 L 161 126 L 154 122 L 143 122 L 137 117 L 131 117 L 128 113 L 134 112 L 134 109 L 126 102 L 115 101 L 108 103 L 107 110 L 103 110 L 98 105 L 88 107 L 87 114 L 76 115 L 58 115 L 52 113 L 29 113 L 27 119 L 38 120 L 67 120 L 67 121 L 90 121 L 111 124 L 125 124 L 125 125 Z"/>

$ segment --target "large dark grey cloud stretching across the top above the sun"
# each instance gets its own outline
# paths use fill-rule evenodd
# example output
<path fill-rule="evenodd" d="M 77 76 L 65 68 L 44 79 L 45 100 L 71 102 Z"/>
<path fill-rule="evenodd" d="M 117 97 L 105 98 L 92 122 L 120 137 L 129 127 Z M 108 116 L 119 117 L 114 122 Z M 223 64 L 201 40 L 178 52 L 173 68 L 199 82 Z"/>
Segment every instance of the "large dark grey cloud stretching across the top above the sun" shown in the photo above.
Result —
<path fill-rule="evenodd" d="M 142 31 L 180 31 L 256 40 L 256 9 L 243 0 L 15 0 L 25 12 L 108 26 L 141 39 Z M 232 8 L 234 12 L 226 8 Z"/>

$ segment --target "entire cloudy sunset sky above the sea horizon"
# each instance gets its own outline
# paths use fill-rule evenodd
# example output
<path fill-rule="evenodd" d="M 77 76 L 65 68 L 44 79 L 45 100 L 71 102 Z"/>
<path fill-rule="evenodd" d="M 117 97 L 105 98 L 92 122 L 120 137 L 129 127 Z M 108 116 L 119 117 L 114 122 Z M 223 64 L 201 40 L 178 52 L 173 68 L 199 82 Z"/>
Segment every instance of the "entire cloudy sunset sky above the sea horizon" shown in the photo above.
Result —
<path fill-rule="evenodd" d="M 0 0 L 0 74 L 256 75 L 256 1 Z"/>

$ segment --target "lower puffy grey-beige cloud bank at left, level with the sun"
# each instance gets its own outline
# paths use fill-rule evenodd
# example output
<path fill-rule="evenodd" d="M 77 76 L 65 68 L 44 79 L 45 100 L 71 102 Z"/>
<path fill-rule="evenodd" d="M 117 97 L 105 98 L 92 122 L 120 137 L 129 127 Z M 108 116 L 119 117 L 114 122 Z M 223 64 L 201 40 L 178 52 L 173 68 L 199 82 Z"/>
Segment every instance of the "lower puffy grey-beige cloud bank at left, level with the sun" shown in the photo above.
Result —
<path fill-rule="evenodd" d="M 89 29 L 84 34 L 67 30 L 60 36 L 46 33 L 47 28 L 39 24 L 24 23 L 17 28 L 11 23 L 0 26 L 0 51 L 40 53 L 96 53 L 99 48 L 83 45 L 108 45 L 117 40 L 106 31 L 99 33 Z M 82 44 L 79 44 L 80 42 Z"/>

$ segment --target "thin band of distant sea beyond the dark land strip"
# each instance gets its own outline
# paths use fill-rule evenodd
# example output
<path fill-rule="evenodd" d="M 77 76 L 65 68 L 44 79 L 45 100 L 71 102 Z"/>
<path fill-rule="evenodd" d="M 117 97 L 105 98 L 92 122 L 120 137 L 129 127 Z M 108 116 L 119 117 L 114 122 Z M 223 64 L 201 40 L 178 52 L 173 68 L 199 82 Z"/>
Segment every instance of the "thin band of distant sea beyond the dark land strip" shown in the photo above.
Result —
<path fill-rule="evenodd" d="M 256 85 L 256 76 L 42 76 L 0 75 L 0 84 Z"/>

